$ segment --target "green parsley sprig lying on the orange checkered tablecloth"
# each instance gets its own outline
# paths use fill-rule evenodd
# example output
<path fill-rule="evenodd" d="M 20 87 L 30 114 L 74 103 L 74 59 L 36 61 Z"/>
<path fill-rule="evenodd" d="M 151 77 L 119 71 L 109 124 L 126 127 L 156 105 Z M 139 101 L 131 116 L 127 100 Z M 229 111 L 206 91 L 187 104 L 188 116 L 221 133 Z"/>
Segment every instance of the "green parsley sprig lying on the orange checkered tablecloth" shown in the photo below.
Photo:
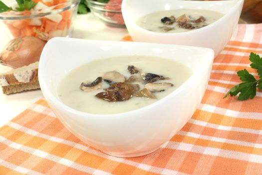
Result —
<path fill-rule="evenodd" d="M 257 94 L 257 88 L 259 90 L 262 89 L 262 57 L 251 52 L 249 59 L 252 62 L 250 66 L 257 69 L 260 79 L 256 79 L 246 68 L 238 71 L 237 74 L 243 82 L 232 87 L 228 93 L 226 93 L 224 98 L 229 95 L 236 96 L 239 94 L 238 100 L 253 99 Z"/>

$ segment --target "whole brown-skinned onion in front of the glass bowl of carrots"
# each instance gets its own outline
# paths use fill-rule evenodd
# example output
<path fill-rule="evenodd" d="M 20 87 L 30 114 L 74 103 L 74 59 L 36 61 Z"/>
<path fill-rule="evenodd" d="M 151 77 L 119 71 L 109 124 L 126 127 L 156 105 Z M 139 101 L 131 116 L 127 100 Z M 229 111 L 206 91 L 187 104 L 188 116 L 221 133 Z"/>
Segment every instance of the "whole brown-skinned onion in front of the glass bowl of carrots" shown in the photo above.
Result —
<path fill-rule="evenodd" d="M 16 37 L 10 40 L 0 53 L 0 63 L 21 67 L 39 61 L 45 43 L 34 36 Z"/>

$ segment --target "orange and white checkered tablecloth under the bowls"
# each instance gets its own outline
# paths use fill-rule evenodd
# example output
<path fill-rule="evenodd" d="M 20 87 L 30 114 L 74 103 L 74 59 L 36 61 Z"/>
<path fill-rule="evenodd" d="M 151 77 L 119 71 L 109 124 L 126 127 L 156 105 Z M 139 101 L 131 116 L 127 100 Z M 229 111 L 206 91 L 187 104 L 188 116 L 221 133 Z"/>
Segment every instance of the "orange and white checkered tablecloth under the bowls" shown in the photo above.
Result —
<path fill-rule="evenodd" d="M 113 157 L 88 146 L 40 99 L 0 128 L 0 174 L 262 174 L 262 91 L 252 100 L 223 99 L 240 82 L 238 70 L 258 77 L 251 51 L 262 55 L 262 23 L 238 25 L 192 118 L 145 156 Z"/>

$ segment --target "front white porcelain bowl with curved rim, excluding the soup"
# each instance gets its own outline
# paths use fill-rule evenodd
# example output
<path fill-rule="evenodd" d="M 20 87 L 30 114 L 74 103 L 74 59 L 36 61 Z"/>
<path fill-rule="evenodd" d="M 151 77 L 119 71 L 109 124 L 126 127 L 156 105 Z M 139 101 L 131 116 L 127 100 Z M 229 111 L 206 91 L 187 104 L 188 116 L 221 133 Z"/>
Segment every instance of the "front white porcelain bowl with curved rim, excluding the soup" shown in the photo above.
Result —
<path fill-rule="evenodd" d="M 117 55 L 165 57 L 188 66 L 193 74 L 166 97 L 124 113 L 85 113 L 60 101 L 57 85 L 68 72 Z M 133 157 L 158 149 L 190 119 L 206 90 L 213 58 L 209 48 L 56 37 L 43 48 L 38 77 L 46 101 L 68 130 L 107 154 Z"/>

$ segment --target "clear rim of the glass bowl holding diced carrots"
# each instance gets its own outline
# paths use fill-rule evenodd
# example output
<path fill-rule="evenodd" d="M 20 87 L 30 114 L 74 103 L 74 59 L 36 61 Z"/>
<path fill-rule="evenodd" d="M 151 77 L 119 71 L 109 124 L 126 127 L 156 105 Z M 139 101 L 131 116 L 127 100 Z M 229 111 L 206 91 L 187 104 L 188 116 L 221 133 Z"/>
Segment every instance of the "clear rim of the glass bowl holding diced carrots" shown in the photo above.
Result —
<path fill-rule="evenodd" d="M 48 6 L 47 8 L 37 9 L 37 10 L 29 10 L 31 14 L 24 15 L 23 11 L 5 11 L 0 13 L 0 19 L 3 20 L 17 20 L 17 19 L 26 19 L 26 18 L 34 18 L 34 17 L 43 17 L 49 14 L 56 14 L 70 8 L 73 8 L 79 4 L 80 0 L 71 0 L 63 3 L 59 3 L 57 5 Z M 65 5 L 62 8 L 54 9 L 57 6 Z M 11 16 L 10 16 L 11 15 Z"/>

